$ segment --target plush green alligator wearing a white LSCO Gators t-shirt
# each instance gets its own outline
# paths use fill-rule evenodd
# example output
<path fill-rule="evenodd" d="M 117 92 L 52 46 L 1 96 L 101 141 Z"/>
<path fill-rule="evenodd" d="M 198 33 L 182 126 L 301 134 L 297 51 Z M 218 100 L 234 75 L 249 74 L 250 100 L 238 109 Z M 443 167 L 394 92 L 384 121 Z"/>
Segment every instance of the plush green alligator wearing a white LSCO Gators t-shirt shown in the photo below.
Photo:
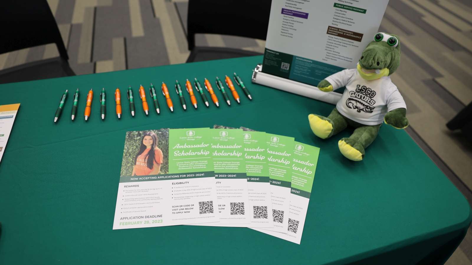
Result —
<path fill-rule="evenodd" d="M 310 114 L 313 133 L 327 139 L 347 126 L 354 127 L 349 138 L 338 142 L 341 153 L 354 161 L 365 156 L 365 149 L 375 140 L 382 122 L 397 129 L 408 126 L 406 105 L 396 85 L 390 80 L 400 65 L 398 36 L 377 33 L 362 52 L 357 69 L 346 69 L 328 76 L 318 84 L 329 92 L 346 86 L 341 99 L 328 117 Z"/>

